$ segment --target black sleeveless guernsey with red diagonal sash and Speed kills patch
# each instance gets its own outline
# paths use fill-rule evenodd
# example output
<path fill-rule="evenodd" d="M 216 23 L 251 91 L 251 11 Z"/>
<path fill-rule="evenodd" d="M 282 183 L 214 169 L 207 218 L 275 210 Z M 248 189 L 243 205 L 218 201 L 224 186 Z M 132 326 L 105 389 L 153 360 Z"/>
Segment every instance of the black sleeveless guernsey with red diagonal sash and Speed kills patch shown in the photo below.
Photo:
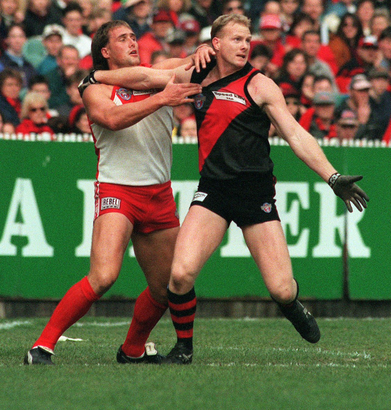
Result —
<path fill-rule="evenodd" d="M 211 62 L 191 82 L 200 84 L 215 65 Z M 217 80 L 195 96 L 199 171 L 214 180 L 246 180 L 246 175 L 271 175 L 270 120 L 247 91 L 259 71 L 247 63 L 235 73 Z"/>

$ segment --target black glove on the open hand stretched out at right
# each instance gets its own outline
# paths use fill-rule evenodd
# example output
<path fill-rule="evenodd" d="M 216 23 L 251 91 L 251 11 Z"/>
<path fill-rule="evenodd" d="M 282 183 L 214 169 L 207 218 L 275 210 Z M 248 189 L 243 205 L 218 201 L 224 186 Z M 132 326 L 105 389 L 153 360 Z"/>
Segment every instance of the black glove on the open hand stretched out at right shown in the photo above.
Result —
<path fill-rule="evenodd" d="M 349 212 L 353 212 L 350 202 L 361 212 L 361 205 L 366 208 L 365 201 L 369 200 L 368 195 L 355 184 L 359 180 L 362 180 L 362 175 L 350 176 L 338 173 L 332 174 L 328 180 L 328 185 L 332 187 L 335 195 L 342 198 Z"/>

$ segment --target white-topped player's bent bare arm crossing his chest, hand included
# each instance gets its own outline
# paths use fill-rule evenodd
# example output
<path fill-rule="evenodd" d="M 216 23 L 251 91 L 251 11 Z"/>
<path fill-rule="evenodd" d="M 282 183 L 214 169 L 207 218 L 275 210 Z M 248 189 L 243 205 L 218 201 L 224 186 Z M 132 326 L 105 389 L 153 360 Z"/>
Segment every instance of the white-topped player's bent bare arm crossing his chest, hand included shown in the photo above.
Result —
<path fill-rule="evenodd" d="M 118 106 L 110 99 L 111 87 L 105 84 L 91 85 L 83 94 L 88 118 L 109 130 L 122 130 L 165 105 L 175 106 L 192 102 L 193 99 L 187 97 L 201 92 L 199 84 L 174 84 L 174 80 L 173 75 L 163 91 L 144 100 Z"/>

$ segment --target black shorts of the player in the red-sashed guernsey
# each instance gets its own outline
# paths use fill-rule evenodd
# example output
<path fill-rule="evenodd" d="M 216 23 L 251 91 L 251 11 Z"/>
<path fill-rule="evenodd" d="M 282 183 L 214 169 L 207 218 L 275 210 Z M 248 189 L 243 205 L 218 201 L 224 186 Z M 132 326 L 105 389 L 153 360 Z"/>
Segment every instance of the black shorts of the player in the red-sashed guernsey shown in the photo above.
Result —
<path fill-rule="evenodd" d="M 274 193 L 275 179 L 272 187 L 266 191 Z M 240 228 L 255 223 L 280 221 L 276 209 L 276 200 L 272 196 L 262 196 L 247 192 L 237 194 L 237 187 L 231 187 L 221 181 L 200 179 L 197 192 L 194 194 L 192 205 L 201 205 L 224 218 L 228 225 L 234 221 Z"/>

